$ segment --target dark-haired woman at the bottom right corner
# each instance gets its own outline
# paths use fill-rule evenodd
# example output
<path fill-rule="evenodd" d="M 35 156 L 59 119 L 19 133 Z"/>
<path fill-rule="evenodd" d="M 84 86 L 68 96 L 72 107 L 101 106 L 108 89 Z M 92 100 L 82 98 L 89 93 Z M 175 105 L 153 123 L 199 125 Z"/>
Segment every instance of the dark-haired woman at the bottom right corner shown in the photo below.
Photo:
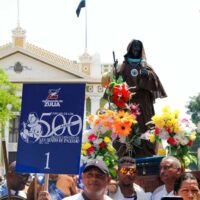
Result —
<path fill-rule="evenodd" d="M 174 194 L 183 197 L 183 200 L 200 200 L 197 178 L 191 173 L 182 174 L 174 184 Z"/>

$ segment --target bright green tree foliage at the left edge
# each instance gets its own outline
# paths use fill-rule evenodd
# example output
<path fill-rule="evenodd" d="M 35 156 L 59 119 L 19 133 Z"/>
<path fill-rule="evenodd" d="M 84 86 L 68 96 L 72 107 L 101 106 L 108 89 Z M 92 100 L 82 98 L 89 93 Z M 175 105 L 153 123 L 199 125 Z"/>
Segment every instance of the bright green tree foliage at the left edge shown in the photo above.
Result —
<path fill-rule="evenodd" d="M 16 96 L 17 85 L 9 81 L 7 74 L 0 69 L 0 137 L 4 138 L 5 122 L 14 118 L 20 109 L 20 98 Z"/>

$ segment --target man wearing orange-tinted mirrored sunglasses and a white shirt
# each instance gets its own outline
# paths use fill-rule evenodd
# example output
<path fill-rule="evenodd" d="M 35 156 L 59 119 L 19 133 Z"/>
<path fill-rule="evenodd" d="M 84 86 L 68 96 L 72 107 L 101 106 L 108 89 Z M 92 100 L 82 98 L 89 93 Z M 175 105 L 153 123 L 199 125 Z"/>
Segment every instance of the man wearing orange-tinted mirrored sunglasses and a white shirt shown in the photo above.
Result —
<path fill-rule="evenodd" d="M 136 162 L 131 157 L 122 157 L 118 162 L 117 190 L 109 193 L 113 200 L 147 200 L 143 188 L 135 184 Z"/>

